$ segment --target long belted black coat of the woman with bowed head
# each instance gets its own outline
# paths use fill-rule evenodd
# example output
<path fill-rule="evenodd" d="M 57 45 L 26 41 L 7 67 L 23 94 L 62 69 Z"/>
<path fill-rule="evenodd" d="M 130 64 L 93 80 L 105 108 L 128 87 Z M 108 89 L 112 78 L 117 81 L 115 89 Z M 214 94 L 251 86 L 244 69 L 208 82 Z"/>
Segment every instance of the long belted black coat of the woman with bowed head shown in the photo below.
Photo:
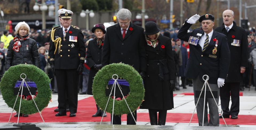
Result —
<path fill-rule="evenodd" d="M 172 42 L 170 38 L 161 34 L 157 39 L 158 45 L 155 48 L 146 46 L 145 101 L 142 102 L 140 109 L 171 110 L 174 105 L 169 81 L 175 79 Z"/>

